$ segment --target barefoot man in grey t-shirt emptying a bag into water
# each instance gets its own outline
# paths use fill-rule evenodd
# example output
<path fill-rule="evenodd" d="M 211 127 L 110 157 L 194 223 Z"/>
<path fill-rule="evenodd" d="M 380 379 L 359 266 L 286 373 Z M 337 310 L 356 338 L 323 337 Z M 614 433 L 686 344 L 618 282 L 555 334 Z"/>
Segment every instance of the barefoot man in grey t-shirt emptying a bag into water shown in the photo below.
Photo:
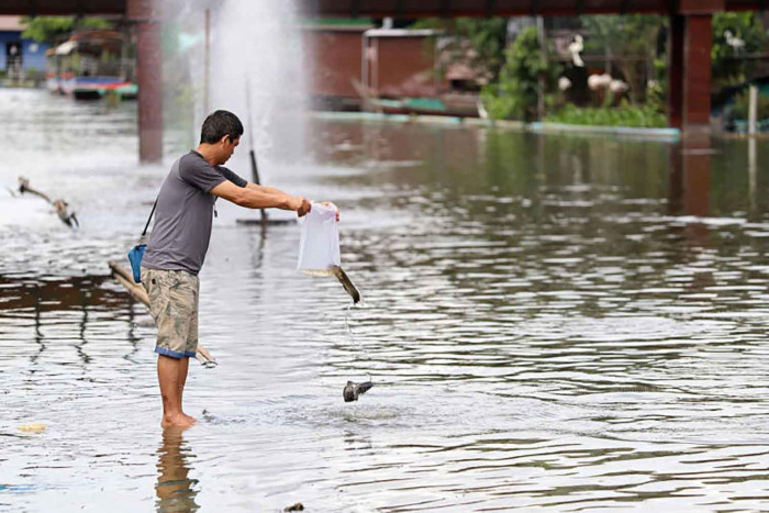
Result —
<path fill-rule="evenodd" d="M 142 285 L 157 325 L 157 378 L 163 427 L 188 427 L 196 420 L 181 408 L 189 358 L 198 347 L 198 272 L 211 238 L 216 198 L 249 209 L 310 212 L 310 202 L 271 187 L 248 183 L 222 165 L 243 134 L 235 114 L 216 111 L 203 122 L 200 145 L 179 158 L 160 187 L 155 224 L 142 260 Z"/>

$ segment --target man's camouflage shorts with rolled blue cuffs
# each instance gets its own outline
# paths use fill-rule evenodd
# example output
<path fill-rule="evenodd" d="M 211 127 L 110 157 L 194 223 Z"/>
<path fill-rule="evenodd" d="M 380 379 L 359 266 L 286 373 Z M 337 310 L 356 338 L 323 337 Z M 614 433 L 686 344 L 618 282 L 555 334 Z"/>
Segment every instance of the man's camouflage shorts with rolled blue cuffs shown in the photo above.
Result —
<path fill-rule="evenodd" d="M 171 358 L 193 357 L 198 349 L 198 277 L 183 270 L 142 267 L 142 285 L 157 325 L 155 353 Z"/>

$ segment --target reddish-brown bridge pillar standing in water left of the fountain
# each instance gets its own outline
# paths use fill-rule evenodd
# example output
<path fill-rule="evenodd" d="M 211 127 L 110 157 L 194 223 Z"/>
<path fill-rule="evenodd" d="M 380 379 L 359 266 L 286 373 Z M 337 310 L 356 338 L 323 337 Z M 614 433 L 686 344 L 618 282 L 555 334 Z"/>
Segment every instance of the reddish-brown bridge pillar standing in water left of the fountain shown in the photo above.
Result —
<path fill-rule="evenodd" d="M 157 0 L 127 0 L 127 16 L 136 33 L 138 85 L 138 157 L 163 160 L 163 48 Z"/>

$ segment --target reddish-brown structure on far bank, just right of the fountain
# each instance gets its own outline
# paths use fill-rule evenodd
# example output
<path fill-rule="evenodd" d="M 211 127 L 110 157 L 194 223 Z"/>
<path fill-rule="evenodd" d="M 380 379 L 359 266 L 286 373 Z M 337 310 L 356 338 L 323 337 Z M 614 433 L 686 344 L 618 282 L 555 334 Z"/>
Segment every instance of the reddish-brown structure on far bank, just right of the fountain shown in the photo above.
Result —
<path fill-rule="evenodd" d="M 361 20 L 304 25 L 315 108 L 478 116 L 488 80 L 473 51 L 433 30 L 375 29 Z M 459 53 L 464 58 L 452 58 Z"/>

